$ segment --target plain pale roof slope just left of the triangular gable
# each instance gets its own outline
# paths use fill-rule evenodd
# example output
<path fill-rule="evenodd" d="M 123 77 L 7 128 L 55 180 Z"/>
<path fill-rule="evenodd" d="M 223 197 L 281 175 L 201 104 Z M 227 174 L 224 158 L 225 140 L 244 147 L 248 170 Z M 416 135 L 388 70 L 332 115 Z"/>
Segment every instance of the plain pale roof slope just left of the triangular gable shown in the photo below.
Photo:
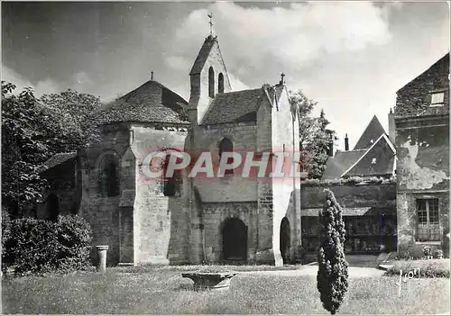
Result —
<path fill-rule="evenodd" d="M 353 166 L 359 158 L 364 156 L 365 152 L 366 150 L 336 151 L 334 157 L 327 158 L 322 180 L 340 178 L 349 167 Z"/>

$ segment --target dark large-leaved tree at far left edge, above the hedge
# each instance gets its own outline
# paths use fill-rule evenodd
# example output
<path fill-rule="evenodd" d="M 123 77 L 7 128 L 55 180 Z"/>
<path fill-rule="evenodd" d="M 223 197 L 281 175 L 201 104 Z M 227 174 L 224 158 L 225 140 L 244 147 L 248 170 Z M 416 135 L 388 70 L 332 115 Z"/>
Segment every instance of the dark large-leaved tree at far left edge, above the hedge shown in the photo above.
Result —
<path fill-rule="evenodd" d="M 46 181 L 38 168 L 50 153 L 38 100 L 31 89 L 13 95 L 14 89 L 2 81 L 2 200 L 15 217 L 24 205 L 41 202 Z"/>

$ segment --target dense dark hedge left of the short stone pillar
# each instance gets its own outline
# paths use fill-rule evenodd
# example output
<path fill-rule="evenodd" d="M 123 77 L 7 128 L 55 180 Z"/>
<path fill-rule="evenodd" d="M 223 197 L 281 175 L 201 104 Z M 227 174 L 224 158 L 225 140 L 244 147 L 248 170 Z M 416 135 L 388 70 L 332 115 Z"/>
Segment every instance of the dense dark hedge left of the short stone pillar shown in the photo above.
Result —
<path fill-rule="evenodd" d="M 14 268 L 14 275 L 26 275 L 89 266 L 92 231 L 81 217 L 60 216 L 57 222 L 32 218 L 5 221 L 5 218 L 7 215 L 2 221 L 4 272 L 8 267 Z"/>

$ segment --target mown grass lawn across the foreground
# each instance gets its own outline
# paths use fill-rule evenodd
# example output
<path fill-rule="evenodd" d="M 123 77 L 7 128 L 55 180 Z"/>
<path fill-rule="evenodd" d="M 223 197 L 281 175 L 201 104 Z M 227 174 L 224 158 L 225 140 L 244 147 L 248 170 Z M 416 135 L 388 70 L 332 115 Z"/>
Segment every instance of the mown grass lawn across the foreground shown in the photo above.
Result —
<path fill-rule="evenodd" d="M 220 267 L 226 269 L 226 267 Z M 315 276 L 236 275 L 227 291 L 191 291 L 179 267 L 110 268 L 105 274 L 4 278 L 3 312 L 103 314 L 325 314 Z M 439 314 L 449 310 L 449 278 L 350 278 L 343 314 Z"/>

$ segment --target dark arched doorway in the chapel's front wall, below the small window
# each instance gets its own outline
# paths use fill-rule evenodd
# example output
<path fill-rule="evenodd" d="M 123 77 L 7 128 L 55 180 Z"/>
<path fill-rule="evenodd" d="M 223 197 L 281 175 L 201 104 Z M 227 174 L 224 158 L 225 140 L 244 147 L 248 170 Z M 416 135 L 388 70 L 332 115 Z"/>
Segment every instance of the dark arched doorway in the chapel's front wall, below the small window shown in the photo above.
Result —
<path fill-rule="evenodd" d="M 237 218 L 224 221 L 222 229 L 223 257 L 228 261 L 245 261 L 247 257 L 247 226 Z"/>

